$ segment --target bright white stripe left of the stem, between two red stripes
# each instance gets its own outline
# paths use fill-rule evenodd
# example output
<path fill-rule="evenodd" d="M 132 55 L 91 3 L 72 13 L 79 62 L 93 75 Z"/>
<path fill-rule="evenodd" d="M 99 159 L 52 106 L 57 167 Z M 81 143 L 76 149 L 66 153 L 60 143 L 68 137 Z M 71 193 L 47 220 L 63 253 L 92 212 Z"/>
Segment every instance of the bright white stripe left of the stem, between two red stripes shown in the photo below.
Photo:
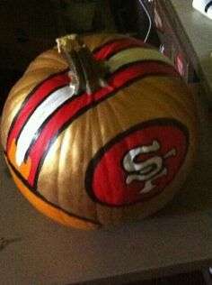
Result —
<path fill-rule="evenodd" d="M 59 106 L 66 102 L 70 97 L 73 97 L 75 88 L 72 86 L 66 86 L 57 89 L 53 92 L 45 101 L 38 106 L 38 108 L 31 115 L 31 118 L 24 125 L 22 133 L 18 139 L 17 152 L 16 152 L 16 163 L 21 165 L 24 160 L 24 156 L 31 145 L 34 134 L 39 130 L 41 124 L 48 119 Z"/>

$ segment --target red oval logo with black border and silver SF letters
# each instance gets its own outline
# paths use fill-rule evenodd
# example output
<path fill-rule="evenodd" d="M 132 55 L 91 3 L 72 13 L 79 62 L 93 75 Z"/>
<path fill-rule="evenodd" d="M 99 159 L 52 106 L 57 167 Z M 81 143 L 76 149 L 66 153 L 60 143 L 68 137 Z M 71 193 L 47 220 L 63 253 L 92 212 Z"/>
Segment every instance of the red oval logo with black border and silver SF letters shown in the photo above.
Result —
<path fill-rule="evenodd" d="M 124 206 L 153 198 L 185 159 L 189 132 L 173 119 L 137 124 L 104 145 L 90 161 L 85 188 L 91 198 Z"/>

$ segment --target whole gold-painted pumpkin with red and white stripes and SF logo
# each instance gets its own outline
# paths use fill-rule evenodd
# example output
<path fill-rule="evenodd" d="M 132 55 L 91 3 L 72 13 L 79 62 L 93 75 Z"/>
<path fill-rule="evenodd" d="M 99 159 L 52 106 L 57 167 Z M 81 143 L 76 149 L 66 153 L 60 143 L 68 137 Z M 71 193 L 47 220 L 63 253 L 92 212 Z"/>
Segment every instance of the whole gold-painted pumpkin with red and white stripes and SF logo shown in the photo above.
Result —
<path fill-rule="evenodd" d="M 119 34 L 69 36 L 4 106 L 4 157 L 45 215 L 93 229 L 152 215 L 192 170 L 196 107 L 172 63 Z"/>

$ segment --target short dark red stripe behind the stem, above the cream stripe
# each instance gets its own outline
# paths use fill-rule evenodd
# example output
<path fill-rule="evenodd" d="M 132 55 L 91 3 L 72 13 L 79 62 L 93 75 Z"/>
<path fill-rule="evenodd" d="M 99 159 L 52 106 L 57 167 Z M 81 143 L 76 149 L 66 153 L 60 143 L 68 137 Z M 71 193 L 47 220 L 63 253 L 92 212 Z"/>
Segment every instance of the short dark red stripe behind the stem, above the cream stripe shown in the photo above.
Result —
<path fill-rule="evenodd" d="M 119 41 L 112 41 L 104 45 L 101 50 L 94 52 L 94 58 L 96 60 L 104 60 L 110 57 L 110 55 L 115 54 L 118 51 L 125 50 L 127 48 L 142 47 L 147 48 L 148 45 L 142 41 L 134 38 L 123 39 Z"/>

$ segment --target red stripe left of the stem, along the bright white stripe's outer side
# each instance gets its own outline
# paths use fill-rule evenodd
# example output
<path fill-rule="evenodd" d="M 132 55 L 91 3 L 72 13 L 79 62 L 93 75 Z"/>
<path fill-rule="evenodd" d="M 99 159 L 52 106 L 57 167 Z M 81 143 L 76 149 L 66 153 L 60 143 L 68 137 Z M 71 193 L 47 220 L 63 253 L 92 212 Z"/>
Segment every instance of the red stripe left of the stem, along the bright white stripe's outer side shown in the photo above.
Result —
<path fill-rule="evenodd" d="M 32 90 L 27 102 L 22 106 L 19 115 L 16 118 L 15 124 L 13 125 L 12 132 L 9 135 L 7 142 L 7 150 L 10 149 L 11 143 L 14 138 L 21 132 L 23 125 L 27 121 L 28 117 L 32 114 L 34 109 L 40 104 L 40 102 L 48 97 L 55 89 L 63 87 L 70 82 L 70 78 L 67 76 L 67 72 L 55 75 L 48 80 L 45 80 L 35 90 Z"/>

